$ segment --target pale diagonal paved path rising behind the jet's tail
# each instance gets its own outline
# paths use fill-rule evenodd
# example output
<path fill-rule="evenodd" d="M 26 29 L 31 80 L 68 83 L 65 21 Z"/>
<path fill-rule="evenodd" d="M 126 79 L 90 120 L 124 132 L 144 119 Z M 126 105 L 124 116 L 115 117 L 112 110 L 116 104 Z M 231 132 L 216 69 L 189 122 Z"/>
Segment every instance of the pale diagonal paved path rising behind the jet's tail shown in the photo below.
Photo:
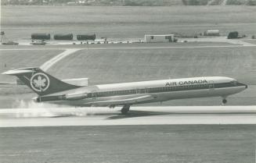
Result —
<path fill-rule="evenodd" d="M 40 68 L 44 71 L 47 71 L 50 67 L 52 67 L 56 62 L 59 62 L 61 59 L 67 57 L 68 55 L 71 55 L 75 51 L 81 50 L 80 48 L 68 48 L 66 51 L 63 51 L 59 55 L 56 55 L 55 57 L 51 58 L 49 61 L 45 62 L 43 65 L 40 66 Z"/>

